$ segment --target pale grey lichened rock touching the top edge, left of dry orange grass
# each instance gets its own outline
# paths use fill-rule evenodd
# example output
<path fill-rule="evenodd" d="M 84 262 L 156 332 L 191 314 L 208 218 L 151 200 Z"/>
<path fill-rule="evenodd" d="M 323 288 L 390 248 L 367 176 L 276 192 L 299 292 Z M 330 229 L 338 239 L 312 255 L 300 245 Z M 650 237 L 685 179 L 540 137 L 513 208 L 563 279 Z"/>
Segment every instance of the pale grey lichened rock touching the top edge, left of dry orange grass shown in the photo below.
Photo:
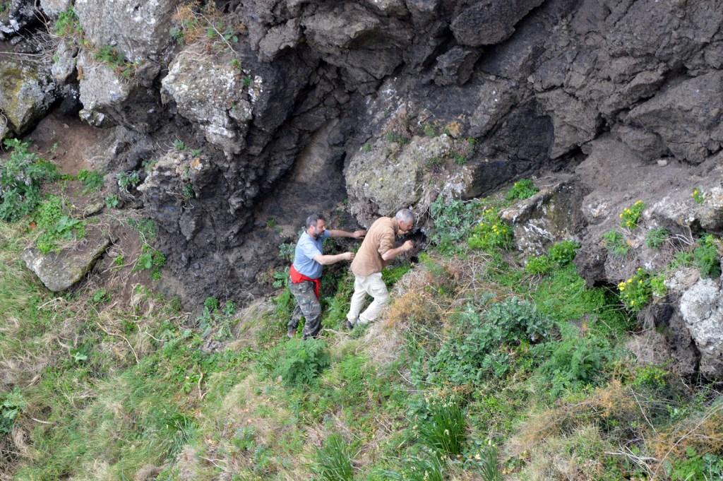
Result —
<path fill-rule="evenodd" d="M 75 0 L 83 32 L 95 46 L 112 45 L 130 61 L 159 59 L 171 40 L 168 33 L 176 0 Z"/>

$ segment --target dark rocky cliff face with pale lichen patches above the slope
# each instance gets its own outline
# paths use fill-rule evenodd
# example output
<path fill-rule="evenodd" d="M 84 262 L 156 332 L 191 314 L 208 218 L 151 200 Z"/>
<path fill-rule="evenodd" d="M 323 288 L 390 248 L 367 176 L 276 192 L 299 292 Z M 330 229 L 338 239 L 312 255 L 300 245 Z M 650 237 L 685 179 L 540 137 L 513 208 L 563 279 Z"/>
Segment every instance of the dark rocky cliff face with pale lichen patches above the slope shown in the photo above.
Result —
<path fill-rule="evenodd" d="M 723 231 L 721 0 L 36 4 L 0 13 L 0 132 L 51 108 L 105 129 L 98 168 L 140 171 L 124 201 L 161 228 L 189 299 L 263 291 L 311 211 L 346 199 L 368 225 L 411 206 L 424 226 L 439 195 L 542 172 L 557 187 L 510 213 L 518 247 L 578 239 L 590 284 L 670 260 L 640 236 L 609 255 L 602 236 L 636 200 L 646 229 Z M 705 282 L 677 285 L 675 309 L 651 321 L 688 322 L 696 339 L 669 336 L 684 373 L 699 346 L 722 362 L 723 343 L 693 327 L 723 322 L 719 280 Z M 711 308 L 681 314 L 698 291 Z"/>

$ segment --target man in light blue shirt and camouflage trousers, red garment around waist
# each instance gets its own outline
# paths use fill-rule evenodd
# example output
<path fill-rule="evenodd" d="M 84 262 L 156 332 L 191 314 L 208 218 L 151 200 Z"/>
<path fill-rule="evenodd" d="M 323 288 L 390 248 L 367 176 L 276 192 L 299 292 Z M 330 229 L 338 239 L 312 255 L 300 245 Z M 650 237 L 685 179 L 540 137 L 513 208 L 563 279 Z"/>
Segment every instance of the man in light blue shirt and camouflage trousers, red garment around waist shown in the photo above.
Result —
<path fill-rule="evenodd" d="M 288 289 L 294 294 L 296 307 L 291 315 L 291 320 L 286 326 L 287 336 L 294 337 L 296 325 L 301 315 L 306 318 L 304 324 L 304 339 L 316 337 L 321 331 L 321 305 L 319 304 L 319 292 L 321 289 L 322 266 L 338 263 L 341 260 L 354 259 L 354 252 L 343 252 L 337 255 L 323 255 L 322 245 L 328 237 L 351 237 L 361 239 L 367 231 L 340 231 L 335 229 L 326 230 L 326 221 L 319 214 L 312 214 L 307 217 L 306 231 L 296 242 L 294 252 L 294 263 L 289 269 L 291 277 Z"/>

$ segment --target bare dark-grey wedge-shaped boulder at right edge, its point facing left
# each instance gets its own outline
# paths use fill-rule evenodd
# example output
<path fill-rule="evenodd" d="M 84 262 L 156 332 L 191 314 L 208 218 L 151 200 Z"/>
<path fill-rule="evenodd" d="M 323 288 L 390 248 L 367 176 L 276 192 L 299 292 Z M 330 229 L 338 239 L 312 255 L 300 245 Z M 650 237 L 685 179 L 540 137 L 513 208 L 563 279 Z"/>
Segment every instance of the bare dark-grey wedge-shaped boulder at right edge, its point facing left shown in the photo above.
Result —
<path fill-rule="evenodd" d="M 630 111 L 677 157 L 701 163 L 723 145 L 723 72 L 710 72 L 663 90 Z"/>

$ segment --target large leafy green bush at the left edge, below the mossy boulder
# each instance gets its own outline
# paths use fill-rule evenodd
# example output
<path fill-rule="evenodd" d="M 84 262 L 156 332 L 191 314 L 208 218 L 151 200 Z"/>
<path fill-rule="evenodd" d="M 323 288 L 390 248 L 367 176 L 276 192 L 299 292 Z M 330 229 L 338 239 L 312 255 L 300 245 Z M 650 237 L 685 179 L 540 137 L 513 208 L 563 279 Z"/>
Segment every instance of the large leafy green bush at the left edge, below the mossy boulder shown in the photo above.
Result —
<path fill-rule="evenodd" d="M 40 185 L 58 178 L 52 163 L 30 152 L 30 144 L 4 140 L 10 156 L 0 165 L 0 220 L 14 222 L 35 210 L 40 203 Z"/>

